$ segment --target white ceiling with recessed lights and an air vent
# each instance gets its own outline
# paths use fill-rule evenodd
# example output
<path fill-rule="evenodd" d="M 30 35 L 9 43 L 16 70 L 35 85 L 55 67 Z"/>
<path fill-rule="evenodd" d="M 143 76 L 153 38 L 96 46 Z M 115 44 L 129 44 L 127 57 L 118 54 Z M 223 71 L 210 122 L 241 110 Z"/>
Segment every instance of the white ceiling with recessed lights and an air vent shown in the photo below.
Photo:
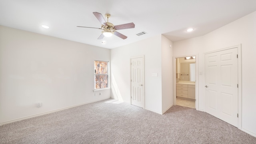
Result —
<path fill-rule="evenodd" d="M 158 34 L 173 42 L 202 36 L 254 11 L 256 0 L 0 0 L 0 25 L 111 49 Z M 134 22 L 135 28 L 118 30 L 125 40 L 98 40 L 101 30 L 76 27 L 100 28 L 92 12 L 111 14 L 114 25 Z M 147 34 L 136 35 L 142 31 Z"/>

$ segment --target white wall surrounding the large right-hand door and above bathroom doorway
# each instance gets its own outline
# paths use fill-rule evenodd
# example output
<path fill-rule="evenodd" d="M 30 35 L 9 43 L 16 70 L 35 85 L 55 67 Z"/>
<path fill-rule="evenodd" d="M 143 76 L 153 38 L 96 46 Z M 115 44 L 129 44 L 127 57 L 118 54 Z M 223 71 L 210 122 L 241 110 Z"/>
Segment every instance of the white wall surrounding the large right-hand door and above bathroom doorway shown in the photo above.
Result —
<path fill-rule="evenodd" d="M 256 136 L 256 12 L 205 36 L 174 42 L 174 56 L 199 54 L 199 71 L 204 72 L 204 53 L 242 44 L 242 130 Z M 199 110 L 204 111 L 204 75 L 199 75 Z"/>

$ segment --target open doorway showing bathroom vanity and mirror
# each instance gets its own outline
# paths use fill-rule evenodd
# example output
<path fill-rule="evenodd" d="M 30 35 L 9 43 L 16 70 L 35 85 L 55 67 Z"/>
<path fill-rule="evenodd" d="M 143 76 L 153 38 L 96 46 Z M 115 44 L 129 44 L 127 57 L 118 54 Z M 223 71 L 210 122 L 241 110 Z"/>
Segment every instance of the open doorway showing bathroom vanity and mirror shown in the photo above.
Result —
<path fill-rule="evenodd" d="M 174 105 L 198 108 L 197 55 L 174 57 Z"/>

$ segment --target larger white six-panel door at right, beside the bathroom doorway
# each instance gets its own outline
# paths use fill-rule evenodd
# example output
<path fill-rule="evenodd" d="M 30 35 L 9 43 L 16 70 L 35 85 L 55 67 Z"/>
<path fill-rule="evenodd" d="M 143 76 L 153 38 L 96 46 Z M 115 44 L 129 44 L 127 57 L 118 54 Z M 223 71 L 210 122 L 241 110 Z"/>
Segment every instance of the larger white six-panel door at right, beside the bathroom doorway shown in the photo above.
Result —
<path fill-rule="evenodd" d="M 238 127 L 238 49 L 205 54 L 206 112 Z"/>

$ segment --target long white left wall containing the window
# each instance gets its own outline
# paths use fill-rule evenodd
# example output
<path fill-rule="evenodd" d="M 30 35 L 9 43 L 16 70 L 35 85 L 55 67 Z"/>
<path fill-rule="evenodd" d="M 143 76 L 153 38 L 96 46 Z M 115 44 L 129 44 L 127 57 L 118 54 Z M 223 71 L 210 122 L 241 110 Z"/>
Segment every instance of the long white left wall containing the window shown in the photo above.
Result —
<path fill-rule="evenodd" d="M 110 98 L 94 96 L 94 59 L 110 50 L 0 26 L 0 124 Z"/>

